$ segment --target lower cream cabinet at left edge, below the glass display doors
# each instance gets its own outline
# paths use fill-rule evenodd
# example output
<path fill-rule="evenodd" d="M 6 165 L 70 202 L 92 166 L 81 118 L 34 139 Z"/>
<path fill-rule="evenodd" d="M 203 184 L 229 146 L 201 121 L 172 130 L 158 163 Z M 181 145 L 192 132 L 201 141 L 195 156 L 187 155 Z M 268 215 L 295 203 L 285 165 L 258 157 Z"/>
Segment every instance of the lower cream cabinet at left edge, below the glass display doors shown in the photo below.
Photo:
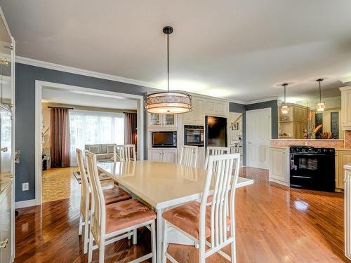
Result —
<path fill-rule="evenodd" d="M 12 262 L 11 229 L 13 229 L 12 215 L 12 182 L 8 183 L 4 191 L 0 191 L 0 262 Z"/>

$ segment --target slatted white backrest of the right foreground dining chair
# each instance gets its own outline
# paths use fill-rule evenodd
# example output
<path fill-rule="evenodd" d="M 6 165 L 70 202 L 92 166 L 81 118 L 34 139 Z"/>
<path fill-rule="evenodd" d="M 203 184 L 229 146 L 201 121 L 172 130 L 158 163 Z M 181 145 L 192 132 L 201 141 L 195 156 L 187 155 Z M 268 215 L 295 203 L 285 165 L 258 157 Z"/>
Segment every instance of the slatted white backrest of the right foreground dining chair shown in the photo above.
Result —
<path fill-rule="evenodd" d="M 240 154 L 221 154 L 208 157 L 206 184 L 200 205 L 200 241 L 201 238 L 205 238 L 206 203 L 210 189 L 213 187 L 213 201 L 210 207 L 207 206 L 207 209 L 211 209 L 212 249 L 227 241 L 228 227 L 230 227 L 231 236 L 235 234 L 234 196 L 239 177 L 239 160 Z M 232 175 L 233 168 L 234 175 Z M 229 210 L 227 209 L 228 205 Z M 230 217 L 230 226 L 227 225 L 228 216 Z"/>

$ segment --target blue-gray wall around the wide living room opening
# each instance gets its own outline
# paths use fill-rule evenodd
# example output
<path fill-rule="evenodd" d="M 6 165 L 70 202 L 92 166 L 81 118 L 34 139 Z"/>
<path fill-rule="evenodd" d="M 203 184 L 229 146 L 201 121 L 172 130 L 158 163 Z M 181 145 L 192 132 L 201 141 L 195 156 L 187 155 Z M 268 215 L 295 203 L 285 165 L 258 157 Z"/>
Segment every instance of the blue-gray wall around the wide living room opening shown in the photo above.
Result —
<path fill-rule="evenodd" d="M 50 81 L 66 85 L 119 93 L 144 95 L 154 89 L 128 83 L 109 81 L 53 69 L 44 69 L 16 63 L 15 65 L 15 109 L 16 149 L 20 150 L 20 163 L 15 165 L 15 201 L 35 198 L 35 81 Z M 118 105 L 116 105 L 118 107 Z M 146 119 L 145 119 L 146 126 Z M 146 133 L 145 133 L 146 135 Z M 144 135 L 144 136 L 145 136 Z M 145 136 L 146 142 L 146 136 Z M 145 149 L 144 149 L 145 151 Z M 22 191 L 22 183 L 29 182 L 29 191 Z"/>

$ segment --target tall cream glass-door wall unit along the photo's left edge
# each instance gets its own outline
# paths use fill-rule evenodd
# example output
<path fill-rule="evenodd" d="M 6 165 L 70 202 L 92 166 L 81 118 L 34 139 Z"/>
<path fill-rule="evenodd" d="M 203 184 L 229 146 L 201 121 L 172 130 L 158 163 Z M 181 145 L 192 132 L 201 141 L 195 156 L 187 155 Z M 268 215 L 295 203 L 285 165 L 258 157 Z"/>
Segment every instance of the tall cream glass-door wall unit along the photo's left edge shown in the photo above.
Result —
<path fill-rule="evenodd" d="M 0 8 L 0 262 L 13 262 L 15 41 Z"/>

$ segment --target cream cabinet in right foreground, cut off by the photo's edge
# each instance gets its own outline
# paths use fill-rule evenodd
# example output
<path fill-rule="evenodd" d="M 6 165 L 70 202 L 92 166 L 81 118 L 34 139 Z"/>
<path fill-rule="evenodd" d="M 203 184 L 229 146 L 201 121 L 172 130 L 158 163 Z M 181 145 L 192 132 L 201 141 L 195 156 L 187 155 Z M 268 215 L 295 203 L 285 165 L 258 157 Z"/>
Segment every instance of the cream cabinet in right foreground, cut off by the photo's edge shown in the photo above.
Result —
<path fill-rule="evenodd" d="M 351 259 L 351 163 L 345 169 L 345 256 Z"/>

